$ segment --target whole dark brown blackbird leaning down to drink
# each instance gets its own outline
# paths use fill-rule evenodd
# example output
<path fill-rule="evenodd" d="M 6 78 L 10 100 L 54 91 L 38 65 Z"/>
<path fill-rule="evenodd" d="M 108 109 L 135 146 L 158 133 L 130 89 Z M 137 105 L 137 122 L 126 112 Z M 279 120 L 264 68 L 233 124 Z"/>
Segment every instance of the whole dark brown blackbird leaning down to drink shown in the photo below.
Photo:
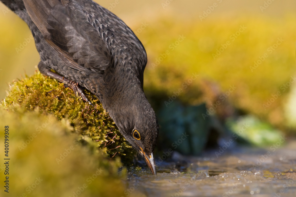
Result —
<path fill-rule="evenodd" d="M 144 46 L 115 14 L 91 0 L 1 0 L 29 26 L 40 72 L 89 102 L 91 91 L 156 174 L 158 122 L 143 90 Z"/>

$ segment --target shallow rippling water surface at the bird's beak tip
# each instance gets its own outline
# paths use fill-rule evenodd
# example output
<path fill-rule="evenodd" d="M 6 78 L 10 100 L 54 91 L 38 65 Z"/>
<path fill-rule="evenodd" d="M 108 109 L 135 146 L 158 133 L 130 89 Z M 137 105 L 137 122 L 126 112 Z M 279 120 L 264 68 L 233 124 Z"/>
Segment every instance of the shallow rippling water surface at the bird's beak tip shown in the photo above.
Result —
<path fill-rule="evenodd" d="M 296 196 L 296 142 L 284 148 L 236 148 L 216 156 L 173 154 L 156 176 L 129 170 L 126 196 Z"/>

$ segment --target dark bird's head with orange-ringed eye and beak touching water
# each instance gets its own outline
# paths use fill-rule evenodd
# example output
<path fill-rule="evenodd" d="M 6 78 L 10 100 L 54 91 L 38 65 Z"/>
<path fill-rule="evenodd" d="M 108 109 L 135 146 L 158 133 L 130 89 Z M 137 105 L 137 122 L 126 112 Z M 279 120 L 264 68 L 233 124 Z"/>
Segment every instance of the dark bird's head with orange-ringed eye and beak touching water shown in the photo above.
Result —
<path fill-rule="evenodd" d="M 156 165 L 153 150 L 159 132 L 154 110 L 149 104 L 144 92 L 138 92 L 127 102 L 116 104 L 115 110 L 110 110 L 110 116 L 120 133 L 145 159 L 152 174 L 156 175 Z"/>

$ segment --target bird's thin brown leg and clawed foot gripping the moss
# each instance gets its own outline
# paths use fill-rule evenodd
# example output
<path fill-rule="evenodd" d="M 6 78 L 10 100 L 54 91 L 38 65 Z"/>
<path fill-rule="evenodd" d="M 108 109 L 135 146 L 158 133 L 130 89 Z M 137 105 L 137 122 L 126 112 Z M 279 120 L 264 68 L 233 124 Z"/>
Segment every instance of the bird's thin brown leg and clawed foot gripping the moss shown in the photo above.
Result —
<path fill-rule="evenodd" d="M 38 64 L 38 69 L 39 71 L 41 72 L 41 74 L 44 74 L 46 76 L 50 76 L 52 77 L 53 79 L 57 79 L 59 82 L 62 82 L 63 84 L 69 86 L 70 88 L 73 89 L 74 91 L 74 94 L 76 96 L 81 96 L 81 98 L 83 100 L 85 100 L 86 102 L 88 102 L 89 104 L 93 105 L 89 99 L 86 97 L 86 95 L 83 93 L 82 89 L 80 87 L 78 87 L 78 83 L 70 80 L 70 79 L 67 79 L 63 76 L 60 76 L 59 74 L 56 74 L 52 71 L 50 71 L 50 69 L 47 68 L 46 65 L 44 65 L 42 62 L 39 62 Z"/>

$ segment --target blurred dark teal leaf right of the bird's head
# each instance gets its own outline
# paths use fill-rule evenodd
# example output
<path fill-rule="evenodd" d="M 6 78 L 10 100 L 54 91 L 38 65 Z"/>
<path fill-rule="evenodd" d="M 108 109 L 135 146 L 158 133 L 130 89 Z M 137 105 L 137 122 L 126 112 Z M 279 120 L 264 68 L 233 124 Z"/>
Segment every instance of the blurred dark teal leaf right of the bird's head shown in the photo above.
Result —
<path fill-rule="evenodd" d="M 203 117 L 205 104 L 184 106 L 178 101 L 159 110 L 160 146 L 186 155 L 198 155 L 205 148 L 210 132 L 210 116 Z"/>

